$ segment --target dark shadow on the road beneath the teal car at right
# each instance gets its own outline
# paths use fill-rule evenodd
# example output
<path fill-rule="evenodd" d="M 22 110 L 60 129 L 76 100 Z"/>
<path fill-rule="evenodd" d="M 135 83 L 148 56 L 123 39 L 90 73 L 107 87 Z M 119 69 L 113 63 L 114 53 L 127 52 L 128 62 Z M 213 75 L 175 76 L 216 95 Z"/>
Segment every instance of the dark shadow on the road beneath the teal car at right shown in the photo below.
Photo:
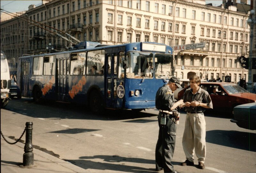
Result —
<path fill-rule="evenodd" d="M 211 130 L 206 132 L 206 142 L 247 151 L 256 151 L 256 133 Z"/>

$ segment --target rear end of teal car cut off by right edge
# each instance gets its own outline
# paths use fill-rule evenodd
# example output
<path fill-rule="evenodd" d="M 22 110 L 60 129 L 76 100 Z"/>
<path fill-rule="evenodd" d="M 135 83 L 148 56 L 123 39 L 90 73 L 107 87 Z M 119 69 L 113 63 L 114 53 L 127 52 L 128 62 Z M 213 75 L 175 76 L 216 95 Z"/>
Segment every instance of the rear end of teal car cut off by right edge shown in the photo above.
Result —
<path fill-rule="evenodd" d="M 256 104 L 248 103 L 234 107 L 234 119 L 230 121 L 239 127 L 256 130 Z"/>

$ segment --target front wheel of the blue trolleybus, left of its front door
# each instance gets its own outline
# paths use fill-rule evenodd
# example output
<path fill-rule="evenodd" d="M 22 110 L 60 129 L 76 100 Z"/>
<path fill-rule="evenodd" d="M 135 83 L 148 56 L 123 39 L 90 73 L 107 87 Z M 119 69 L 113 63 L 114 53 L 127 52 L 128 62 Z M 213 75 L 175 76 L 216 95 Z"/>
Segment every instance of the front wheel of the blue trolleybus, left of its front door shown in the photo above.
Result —
<path fill-rule="evenodd" d="M 93 113 L 100 113 L 103 111 L 102 99 L 100 93 L 96 90 L 90 94 L 90 109 Z"/>

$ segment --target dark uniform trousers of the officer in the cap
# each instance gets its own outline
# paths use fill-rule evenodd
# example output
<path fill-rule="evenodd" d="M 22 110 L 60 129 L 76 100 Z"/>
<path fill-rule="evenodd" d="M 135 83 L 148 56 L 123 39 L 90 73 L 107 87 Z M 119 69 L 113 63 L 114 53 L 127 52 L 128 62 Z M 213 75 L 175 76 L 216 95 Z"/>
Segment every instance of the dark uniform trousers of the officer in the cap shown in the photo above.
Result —
<path fill-rule="evenodd" d="M 174 172 L 171 163 L 176 141 L 176 123 L 172 115 L 166 117 L 166 125 L 161 126 L 161 115 L 158 114 L 159 133 L 156 143 L 156 169 L 164 169 L 164 172 Z"/>

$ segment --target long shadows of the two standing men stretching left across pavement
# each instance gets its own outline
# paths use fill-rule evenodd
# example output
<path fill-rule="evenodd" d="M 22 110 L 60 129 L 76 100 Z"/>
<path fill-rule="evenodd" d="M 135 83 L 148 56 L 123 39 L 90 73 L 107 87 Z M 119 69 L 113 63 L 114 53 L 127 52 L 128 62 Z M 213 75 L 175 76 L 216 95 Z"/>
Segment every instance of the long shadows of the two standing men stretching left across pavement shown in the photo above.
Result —
<path fill-rule="evenodd" d="M 113 170 L 113 171 L 124 171 L 124 172 L 156 172 L 153 168 L 142 168 L 137 166 L 125 165 L 125 162 L 134 163 L 147 163 L 155 164 L 155 160 L 141 159 L 141 158 L 129 158 L 121 157 L 118 155 L 95 155 L 95 156 L 82 156 L 80 160 L 66 160 L 68 162 L 75 162 L 77 166 L 83 169 L 98 169 L 98 170 Z M 105 162 L 94 162 L 92 160 L 84 159 L 103 159 Z M 106 163 L 109 162 L 109 163 Z M 123 162 L 123 163 L 119 163 Z M 74 164 L 74 163 L 73 163 Z"/>

